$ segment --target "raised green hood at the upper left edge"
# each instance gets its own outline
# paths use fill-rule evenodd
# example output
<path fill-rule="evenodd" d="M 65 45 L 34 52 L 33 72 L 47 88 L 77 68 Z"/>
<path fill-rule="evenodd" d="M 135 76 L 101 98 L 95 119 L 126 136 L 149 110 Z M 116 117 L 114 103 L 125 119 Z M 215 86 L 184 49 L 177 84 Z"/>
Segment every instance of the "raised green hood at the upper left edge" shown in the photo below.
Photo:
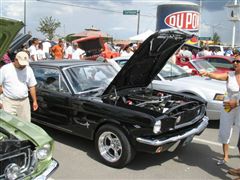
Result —
<path fill-rule="evenodd" d="M 0 17 L 0 59 L 23 26 L 21 21 Z"/>

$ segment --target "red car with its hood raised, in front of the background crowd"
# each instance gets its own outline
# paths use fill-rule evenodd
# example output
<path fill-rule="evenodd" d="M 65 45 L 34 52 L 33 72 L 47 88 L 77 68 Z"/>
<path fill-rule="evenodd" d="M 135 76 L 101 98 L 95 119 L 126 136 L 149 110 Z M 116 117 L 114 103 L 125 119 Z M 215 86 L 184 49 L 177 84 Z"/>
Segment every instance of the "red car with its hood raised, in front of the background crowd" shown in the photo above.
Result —
<path fill-rule="evenodd" d="M 78 43 L 78 46 L 86 52 L 85 59 L 96 60 L 99 57 L 111 59 L 120 56 L 120 53 L 110 43 L 104 42 L 102 37 L 80 38 L 73 43 Z"/>

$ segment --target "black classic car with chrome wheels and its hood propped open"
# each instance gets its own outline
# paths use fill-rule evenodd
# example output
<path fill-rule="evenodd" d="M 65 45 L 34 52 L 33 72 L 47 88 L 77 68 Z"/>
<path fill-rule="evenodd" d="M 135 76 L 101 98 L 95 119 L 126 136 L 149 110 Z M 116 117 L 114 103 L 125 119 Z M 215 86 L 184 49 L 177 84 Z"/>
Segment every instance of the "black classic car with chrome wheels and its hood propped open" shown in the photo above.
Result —
<path fill-rule="evenodd" d="M 206 103 L 147 88 L 188 37 L 156 32 L 117 75 L 103 62 L 31 63 L 39 103 L 32 120 L 94 140 L 100 159 L 116 168 L 128 164 L 136 151 L 160 153 L 190 142 L 208 124 Z"/>

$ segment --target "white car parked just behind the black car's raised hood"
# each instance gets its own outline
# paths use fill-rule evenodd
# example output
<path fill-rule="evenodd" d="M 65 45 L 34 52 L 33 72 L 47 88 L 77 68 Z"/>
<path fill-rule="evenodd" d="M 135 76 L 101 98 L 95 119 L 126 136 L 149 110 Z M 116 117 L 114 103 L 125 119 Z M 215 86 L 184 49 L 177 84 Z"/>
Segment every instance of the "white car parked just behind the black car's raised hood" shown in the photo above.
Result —
<path fill-rule="evenodd" d="M 113 58 L 114 60 L 114 58 Z M 118 62 L 119 58 L 116 59 Z M 124 61 L 124 57 L 121 57 Z M 125 57 L 127 62 L 128 57 Z M 181 67 L 167 63 L 152 81 L 153 89 L 174 91 L 203 98 L 207 102 L 209 120 L 219 120 L 226 92 L 226 82 L 207 77 L 191 76 Z"/>

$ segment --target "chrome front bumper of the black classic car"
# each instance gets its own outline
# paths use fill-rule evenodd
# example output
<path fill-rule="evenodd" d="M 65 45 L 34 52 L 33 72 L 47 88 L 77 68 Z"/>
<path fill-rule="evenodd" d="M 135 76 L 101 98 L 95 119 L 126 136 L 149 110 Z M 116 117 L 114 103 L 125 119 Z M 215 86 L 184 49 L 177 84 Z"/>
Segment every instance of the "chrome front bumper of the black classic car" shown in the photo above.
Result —
<path fill-rule="evenodd" d="M 203 121 L 201 122 L 201 124 L 198 125 L 198 127 L 194 128 L 194 129 L 191 129 L 190 131 L 188 131 L 188 132 L 186 132 L 182 135 L 174 136 L 174 137 L 162 140 L 162 141 L 158 140 L 158 139 L 150 140 L 150 139 L 141 138 L 141 137 L 138 137 L 136 140 L 139 143 L 148 144 L 148 145 L 151 145 L 151 146 L 161 146 L 161 145 L 164 145 L 164 144 L 167 144 L 167 143 L 177 142 L 177 141 L 179 141 L 181 139 L 184 139 L 184 138 L 187 138 L 189 136 L 193 136 L 195 134 L 200 134 L 207 127 L 208 120 L 209 120 L 208 117 L 204 116 Z"/>

